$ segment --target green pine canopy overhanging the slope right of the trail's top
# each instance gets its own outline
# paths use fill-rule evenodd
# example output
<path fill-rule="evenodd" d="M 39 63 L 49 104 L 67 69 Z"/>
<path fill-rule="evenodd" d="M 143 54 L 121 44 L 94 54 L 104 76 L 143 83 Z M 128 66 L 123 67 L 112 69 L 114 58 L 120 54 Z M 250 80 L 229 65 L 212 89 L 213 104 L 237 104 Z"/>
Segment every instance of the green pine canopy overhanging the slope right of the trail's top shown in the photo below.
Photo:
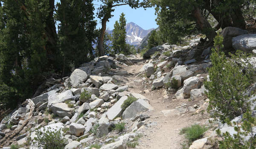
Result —
<path fill-rule="evenodd" d="M 199 31 L 213 40 L 219 28 L 244 29 L 246 16 L 243 14 L 253 0 L 151 0 L 151 3 L 156 6 L 160 33 L 175 44 L 192 32 Z M 215 26 L 209 23 L 212 17 L 217 23 Z"/>

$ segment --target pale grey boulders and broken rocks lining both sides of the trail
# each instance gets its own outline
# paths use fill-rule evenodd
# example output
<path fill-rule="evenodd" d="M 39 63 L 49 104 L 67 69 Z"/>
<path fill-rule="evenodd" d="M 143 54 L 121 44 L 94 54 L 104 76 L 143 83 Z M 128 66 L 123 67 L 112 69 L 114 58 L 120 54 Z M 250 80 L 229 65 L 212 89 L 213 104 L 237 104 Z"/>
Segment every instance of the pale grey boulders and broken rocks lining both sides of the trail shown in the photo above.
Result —
<path fill-rule="evenodd" d="M 247 34 L 233 28 L 224 29 L 222 34 L 231 42 L 233 36 L 229 34 L 234 35 L 230 32 L 236 31 L 237 35 Z M 249 35 L 240 36 L 233 37 L 233 47 L 245 49 L 246 45 L 241 40 L 248 40 L 245 36 Z M 186 112 L 199 113 L 207 108 L 209 99 L 205 95 L 207 90 L 202 82 L 209 78 L 207 68 L 211 66 L 210 48 L 205 49 L 201 54 L 204 60 L 198 61 L 195 58 L 195 50 L 199 40 L 199 38 L 191 40 L 188 46 L 164 44 L 149 49 L 143 55 L 144 58 L 151 57 L 151 59 L 146 61 L 140 69 L 140 74 L 137 75 L 138 78 L 142 77 L 143 81 L 135 80 L 135 83 L 148 83 L 151 85 L 151 90 L 166 88 L 164 98 L 174 94 L 173 100 L 189 98 L 192 101 L 198 99 L 203 101 L 200 107 L 197 105 L 186 107 L 184 103 L 175 109 L 163 110 L 160 115 L 174 117 Z M 253 42 L 250 42 L 251 44 Z M 246 50 L 252 51 L 250 48 Z M 130 88 L 126 85 L 128 79 L 125 77 L 128 72 L 119 71 L 120 65 L 129 66 L 141 61 L 135 55 L 130 55 L 128 58 L 119 54 L 116 58 L 97 57 L 90 63 L 82 64 L 69 77 L 63 78 L 65 80 L 63 84 L 55 84 L 43 94 L 31 99 L 36 108 L 34 116 L 20 132 L 22 135 L 9 140 L 3 149 L 10 149 L 11 144 L 24 145 L 27 142 L 31 145 L 26 148 L 41 149 L 40 144 L 35 140 L 36 129 L 43 131 L 47 128 L 51 131 L 61 130 L 61 136 L 68 141 L 65 149 L 88 149 L 88 146 L 94 143 L 99 143 L 101 149 L 126 149 L 127 144 L 140 135 L 140 130 L 157 125 L 157 122 L 146 121 L 150 117 L 147 113 L 154 110 L 148 99 L 143 95 L 129 92 Z M 170 71 L 163 73 L 163 70 L 169 69 Z M 131 97 L 137 100 L 123 109 L 122 105 Z M 5 117 L 0 123 L 0 140 L 7 134 L 17 131 L 27 120 L 30 111 L 31 107 L 24 103 Z M 49 112 L 52 112 L 52 115 L 49 115 Z M 111 138 L 113 129 L 122 123 L 125 123 L 126 133 Z M 222 126 L 221 130 L 233 132 L 228 126 Z M 211 136 L 214 135 L 215 132 Z M 102 139 L 103 137 L 107 139 Z M 206 142 L 207 138 L 197 140 L 190 148 L 199 149 L 200 147 L 195 146 L 202 144 L 204 146 Z M 83 145 L 85 143 L 87 147 Z"/>

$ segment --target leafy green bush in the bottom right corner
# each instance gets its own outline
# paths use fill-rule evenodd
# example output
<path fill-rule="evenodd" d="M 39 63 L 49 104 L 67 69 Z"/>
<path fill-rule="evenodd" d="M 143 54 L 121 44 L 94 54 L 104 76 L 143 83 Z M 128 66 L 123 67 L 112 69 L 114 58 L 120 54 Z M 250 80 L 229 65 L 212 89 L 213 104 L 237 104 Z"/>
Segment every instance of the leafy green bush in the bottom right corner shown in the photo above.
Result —
<path fill-rule="evenodd" d="M 229 119 L 226 120 L 227 124 L 232 126 Z M 247 112 L 243 115 L 241 126 L 238 123 L 233 122 L 234 129 L 237 132 L 233 137 L 228 132 L 224 132 L 224 140 L 219 141 L 220 149 L 256 149 L 256 139 L 253 136 L 253 127 L 256 126 L 256 118 L 251 116 L 251 112 Z M 218 135 L 221 135 L 220 129 L 216 130 Z M 245 140 L 247 138 L 247 140 Z"/>

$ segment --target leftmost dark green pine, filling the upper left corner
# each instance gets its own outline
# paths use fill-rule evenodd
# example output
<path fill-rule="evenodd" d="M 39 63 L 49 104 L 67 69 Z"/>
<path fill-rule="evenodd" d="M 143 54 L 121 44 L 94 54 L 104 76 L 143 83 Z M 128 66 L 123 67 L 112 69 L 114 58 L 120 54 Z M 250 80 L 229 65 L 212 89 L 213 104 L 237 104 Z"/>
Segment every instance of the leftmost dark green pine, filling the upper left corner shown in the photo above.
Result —
<path fill-rule="evenodd" d="M 0 103 L 15 106 L 18 101 L 31 97 L 49 68 L 45 34 L 49 0 L 2 0 L 1 3 Z"/>

